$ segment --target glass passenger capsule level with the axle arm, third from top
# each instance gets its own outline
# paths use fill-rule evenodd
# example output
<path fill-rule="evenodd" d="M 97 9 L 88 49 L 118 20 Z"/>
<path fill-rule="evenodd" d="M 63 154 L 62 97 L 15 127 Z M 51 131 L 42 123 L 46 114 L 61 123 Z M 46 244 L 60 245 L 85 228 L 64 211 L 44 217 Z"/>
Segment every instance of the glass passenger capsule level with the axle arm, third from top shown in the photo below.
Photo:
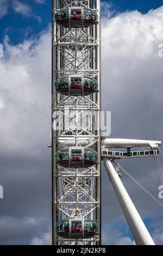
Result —
<path fill-rule="evenodd" d="M 97 153 L 90 148 L 70 147 L 57 151 L 55 153 L 55 161 L 62 167 L 86 168 L 96 164 Z"/>

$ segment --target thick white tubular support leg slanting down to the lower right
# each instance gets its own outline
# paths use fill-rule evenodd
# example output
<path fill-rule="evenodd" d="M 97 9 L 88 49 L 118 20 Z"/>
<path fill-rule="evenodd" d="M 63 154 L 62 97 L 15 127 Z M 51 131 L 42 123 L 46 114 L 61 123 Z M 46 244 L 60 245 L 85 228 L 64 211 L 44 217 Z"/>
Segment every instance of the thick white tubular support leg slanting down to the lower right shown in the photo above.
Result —
<path fill-rule="evenodd" d="M 124 216 L 128 222 L 131 233 L 134 236 L 136 245 L 154 245 L 153 239 L 131 201 L 125 187 L 122 184 L 118 174 L 110 159 L 103 158 L 106 172 L 109 175 L 111 184 L 114 188 L 118 201 L 120 202 Z"/>

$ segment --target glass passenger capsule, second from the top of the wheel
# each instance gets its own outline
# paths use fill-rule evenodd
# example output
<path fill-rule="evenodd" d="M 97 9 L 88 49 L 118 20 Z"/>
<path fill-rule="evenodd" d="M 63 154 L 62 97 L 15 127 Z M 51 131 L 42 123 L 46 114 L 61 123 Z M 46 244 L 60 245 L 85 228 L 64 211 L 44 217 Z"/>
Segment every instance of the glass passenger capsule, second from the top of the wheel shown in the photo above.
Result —
<path fill-rule="evenodd" d="M 58 78 L 55 87 L 63 95 L 86 96 L 98 90 L 98 83 L 89 75 L 69 75 Z"/>

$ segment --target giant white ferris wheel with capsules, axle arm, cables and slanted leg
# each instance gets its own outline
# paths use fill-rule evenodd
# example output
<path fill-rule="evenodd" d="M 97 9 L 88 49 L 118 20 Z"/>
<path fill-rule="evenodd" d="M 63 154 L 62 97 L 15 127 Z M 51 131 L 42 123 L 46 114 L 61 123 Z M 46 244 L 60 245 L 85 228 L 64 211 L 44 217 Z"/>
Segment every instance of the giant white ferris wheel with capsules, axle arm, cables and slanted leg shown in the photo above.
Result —
<path fill-rule="evenodd" d="M 53 245 L 101 244 L 102 161 L 136 244 L 154 245 L 118 171 L 137 181 L 118 160 L 154 157 L 163 181 L 158 162 L 161 142 L 101 136 L 100 18 L 99 0 L 53 0 L 48 142 L 52 147 Z"/>

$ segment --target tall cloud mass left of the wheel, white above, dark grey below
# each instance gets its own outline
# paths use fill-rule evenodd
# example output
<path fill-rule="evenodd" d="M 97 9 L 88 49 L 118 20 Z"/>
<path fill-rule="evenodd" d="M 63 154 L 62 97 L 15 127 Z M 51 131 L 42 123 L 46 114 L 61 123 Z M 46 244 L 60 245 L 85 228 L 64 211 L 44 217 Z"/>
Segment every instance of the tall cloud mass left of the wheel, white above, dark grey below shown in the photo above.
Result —
<path fill-rule="evenodd" d="M 30 243 L 51 226 L 51 150 L 47 148 L 50 44 L 51 31 L 17 46 L 11 46 L 8 38 L 4 41 L 7 51 L 0 60 L 0 183 L 4 188 L 0 222 L 8 228 L 1 229 L 1 244 Z"/>

